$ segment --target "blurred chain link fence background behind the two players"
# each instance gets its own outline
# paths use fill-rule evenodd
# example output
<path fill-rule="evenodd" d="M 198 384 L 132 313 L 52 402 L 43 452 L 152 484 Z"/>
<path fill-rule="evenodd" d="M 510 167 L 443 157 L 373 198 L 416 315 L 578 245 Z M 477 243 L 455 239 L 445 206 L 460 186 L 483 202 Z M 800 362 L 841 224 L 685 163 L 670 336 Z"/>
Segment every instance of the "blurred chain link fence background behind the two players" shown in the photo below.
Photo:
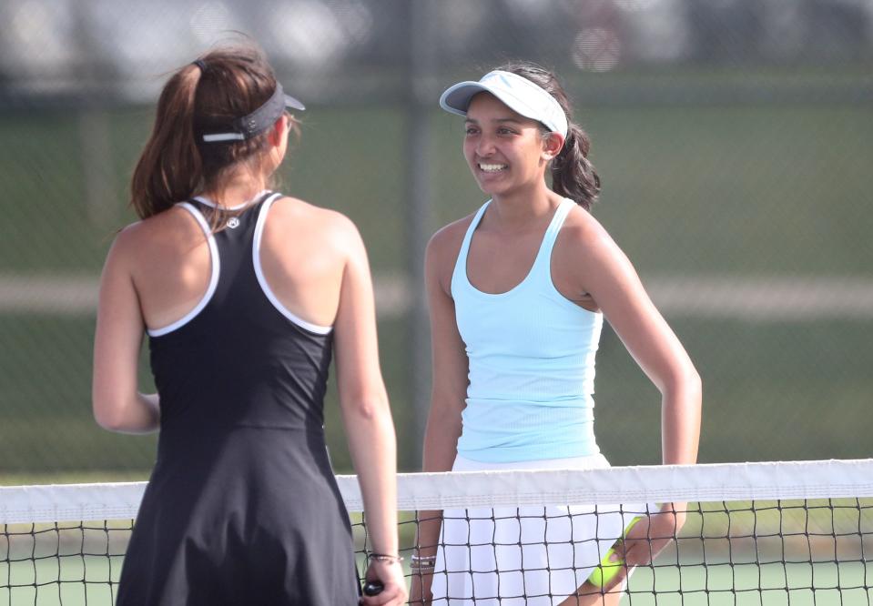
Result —
<path fill-rule="evenodd" d="M 510 58 L 556 69 L 593 140 L 594 214 L 704 379 L 701 460 L 870 456 L 871 0 L 4 0 L 0 480 L 140 478 L 153 437 L 90 414 L 97 281 L 167 74 L 248 35 L 310 109 L 283 190 L 349 215 L 416 470 L 421 256 L 482 202 L 436 100 Z M 144 389 L 150 385 L 143 368 Z M 659 460 L 659 395 L 608 328 L 598 436 Z M 337 470 L 350 469 L 335 391 Z"/>

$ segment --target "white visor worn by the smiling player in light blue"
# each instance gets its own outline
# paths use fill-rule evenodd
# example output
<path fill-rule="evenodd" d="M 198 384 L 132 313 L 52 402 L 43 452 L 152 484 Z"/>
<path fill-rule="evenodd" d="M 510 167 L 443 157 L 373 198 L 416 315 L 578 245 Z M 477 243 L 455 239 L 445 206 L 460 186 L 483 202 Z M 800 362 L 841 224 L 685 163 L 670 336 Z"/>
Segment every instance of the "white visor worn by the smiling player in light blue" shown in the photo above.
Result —
<path fill-rule="evenodd" d="M 467 107 L 474 95 L 491 93 L 517 114 L 542 122 L 553 133 L 567 136 L 567 115 L 557 99 L 523 76 L 494 70 L 482 76 L 479 82 L 459 82 L 450 86 L 440 97 L 440 106 L 459 116 L 467 115 Z"/>

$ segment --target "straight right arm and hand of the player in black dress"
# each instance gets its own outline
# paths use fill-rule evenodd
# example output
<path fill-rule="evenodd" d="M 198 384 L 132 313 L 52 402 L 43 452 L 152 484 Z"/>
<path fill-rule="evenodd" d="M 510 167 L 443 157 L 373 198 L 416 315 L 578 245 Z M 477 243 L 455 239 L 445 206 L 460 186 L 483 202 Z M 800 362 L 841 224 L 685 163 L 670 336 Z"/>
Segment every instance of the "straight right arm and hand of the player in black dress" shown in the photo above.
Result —
<path fill-rule="evenodd" d="M 344 227 L 349 255 L 334 324 L 340 409 L 367 511 L 371 550 L 396 556 L 397 447 L 388 395 L 381 377 L 370 267 L 357 229 Z M 401 603 L 406 586 L 399 563 L 371 561 L 368 579 L 385 586 L 365 604 Z"/>

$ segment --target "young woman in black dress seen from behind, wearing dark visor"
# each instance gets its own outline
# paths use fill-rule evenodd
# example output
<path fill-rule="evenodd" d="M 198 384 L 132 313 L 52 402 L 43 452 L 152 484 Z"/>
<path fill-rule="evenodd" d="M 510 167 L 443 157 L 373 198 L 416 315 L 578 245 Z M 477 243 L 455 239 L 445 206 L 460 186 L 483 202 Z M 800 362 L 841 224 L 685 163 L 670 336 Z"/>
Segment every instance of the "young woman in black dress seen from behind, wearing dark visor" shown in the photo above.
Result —
<path fill-rule="evenodd" d="M 406 599 L 366 252 L 348 218 L 269 189 L 302 109 L 249 46 L 180 68 L 158 101 L 132 182 L 142 220 L 108 253 L 96 323 L 97 422 L 160 430 L 120 606 Z M 137 390 L 144 332 L 156 394 Z M 332 356 L 371 597 L 324 441 Z"/>

